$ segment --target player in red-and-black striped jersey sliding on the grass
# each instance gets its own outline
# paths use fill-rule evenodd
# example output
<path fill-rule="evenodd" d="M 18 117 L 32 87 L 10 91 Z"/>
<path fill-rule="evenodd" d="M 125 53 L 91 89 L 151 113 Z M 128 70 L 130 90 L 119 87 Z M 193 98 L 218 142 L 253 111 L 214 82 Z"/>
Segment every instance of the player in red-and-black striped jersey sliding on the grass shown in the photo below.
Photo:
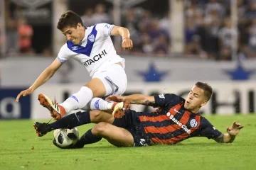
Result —
<path fill-rule="evenodd" d="M 91 111 L 91 121 L 97 125 L 80 138 L 76 147 L 97 142 L 102 137 L 118 147 L 146 146 L 159 143 L 174 145 L 190 137 L 208 137 L 208 139 L 220 143 L 233 142 L 239 130 L 244 127 L 243 125 L 234 122 L 230 128 L 227 128 L 227 133 L 222 133 L 215 129 L 206 118 L 198 114 L 200 108 L 209 101 L 212 91 L 208 84 L 197 82 L 186 100 L 175 94 L 109 96 L 107 100 L 143 104 L 159 107 L 159 109 L 153 113 L 126 110 L 122 118 L 119 119 L 102 111 Z M 75 120 L 75 116 L 73 117 L 73 123 L 70 123 L 71 118 L 67 118 L 65 125 L 72 124 L 68 128 L 82 124 L 81 121 Z M 85 122 L 82 117 L 80 120 Z M 40 129 L 43 127 L 41 123 L 35 125 Z M 65 125 L 63 124 L 62 127 L 58 125 L 55 128 L 64 128 Z M 55 129 L 53 125 L 44 126 L 48 126 L 48 130 L 50 128 Z"/>

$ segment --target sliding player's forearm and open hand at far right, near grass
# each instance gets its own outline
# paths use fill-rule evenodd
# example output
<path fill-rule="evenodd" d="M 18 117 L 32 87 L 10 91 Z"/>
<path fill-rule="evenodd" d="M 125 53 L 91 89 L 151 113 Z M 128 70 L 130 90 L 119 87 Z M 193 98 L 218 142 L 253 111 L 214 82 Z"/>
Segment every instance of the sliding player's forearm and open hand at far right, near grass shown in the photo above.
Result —
<path fill-rule="evenodd" d="M 227 133 L 220 135 L 215 141 L 219 143 L 232 143 L 235 140 L 236 135 L 238 135 L 239 130 L 244 127 L 245 126 L 240 123 L 233 122 L 233 124 L 227 128 Z"/>

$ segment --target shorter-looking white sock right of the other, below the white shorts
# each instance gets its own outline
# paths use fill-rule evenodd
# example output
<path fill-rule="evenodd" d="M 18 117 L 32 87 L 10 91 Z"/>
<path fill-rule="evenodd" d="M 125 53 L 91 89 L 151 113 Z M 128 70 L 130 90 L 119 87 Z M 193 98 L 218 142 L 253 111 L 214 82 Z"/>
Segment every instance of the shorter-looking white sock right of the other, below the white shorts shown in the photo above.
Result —
<path fill-rule="evenodd" d="M 92 98 L 90 101 L 90 110 L 111 110 L 113 103 L 114 102 L 105 101 L 102 98 Z"/>

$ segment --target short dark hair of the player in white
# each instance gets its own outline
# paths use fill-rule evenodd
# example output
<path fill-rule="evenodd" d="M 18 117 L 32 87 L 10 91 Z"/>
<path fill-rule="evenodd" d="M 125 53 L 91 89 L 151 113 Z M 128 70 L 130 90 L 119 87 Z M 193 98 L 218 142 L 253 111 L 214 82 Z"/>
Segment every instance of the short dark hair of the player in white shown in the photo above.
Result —
<path fill-rule="evenodd" d="M 69 10 L 61 15 L 58 21 L 57 28 L 59 30 L 63 30 L 63 28 L 67 26 L 71 28 L 76 28 L 76 26 L 78 26 L 78 23 L 82 24 L 82 19 L 80 18 L 80 16 L 78 16 L 78 13 Z"/>

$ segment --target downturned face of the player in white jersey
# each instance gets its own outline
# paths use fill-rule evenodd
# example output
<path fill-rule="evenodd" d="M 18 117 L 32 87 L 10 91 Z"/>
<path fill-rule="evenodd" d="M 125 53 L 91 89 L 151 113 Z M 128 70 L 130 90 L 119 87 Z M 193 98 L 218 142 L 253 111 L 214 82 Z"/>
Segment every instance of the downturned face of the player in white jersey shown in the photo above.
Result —
<path fill-rule="evenodd" d="M 61 31 L 67 40 L 72 41 L 76 45 L 78 45 L 80 41 L 85 37 L 85 28 L 81 25 L 81 23 L 78 23 L 76 28 L 67 26 Z"/>

